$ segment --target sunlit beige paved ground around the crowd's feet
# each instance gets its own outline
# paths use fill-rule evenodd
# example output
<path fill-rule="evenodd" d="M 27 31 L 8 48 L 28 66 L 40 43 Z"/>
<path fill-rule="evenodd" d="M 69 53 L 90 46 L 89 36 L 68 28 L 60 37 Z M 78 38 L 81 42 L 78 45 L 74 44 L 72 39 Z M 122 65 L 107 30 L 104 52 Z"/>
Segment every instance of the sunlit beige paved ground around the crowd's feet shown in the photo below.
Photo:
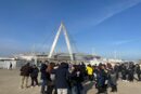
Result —
<path fill-rule="evenodd" d="M 40 88 L 20 89 L 20 71 L 0 69 L 0 94 L 40 94 Z M 86 84 L 85 90 L 87 94 L 95 94 L 97 90 L 93 83 Z M 110 91 L 110 90 L 108 90 Z M 118 92 L 108 94 L 141 94 L 141 82 L 118 82 Z"/>

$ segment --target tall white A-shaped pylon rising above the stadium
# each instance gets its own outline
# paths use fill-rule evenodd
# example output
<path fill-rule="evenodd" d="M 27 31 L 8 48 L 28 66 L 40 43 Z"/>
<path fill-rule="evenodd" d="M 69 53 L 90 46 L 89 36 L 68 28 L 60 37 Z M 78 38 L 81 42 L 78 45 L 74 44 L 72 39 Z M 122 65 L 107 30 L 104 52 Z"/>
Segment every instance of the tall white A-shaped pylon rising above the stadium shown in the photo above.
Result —
<path fill-rule="evenodd" d="M 51 58 L 51 57 L 52 57 L 52 54 L 53 54 L 53 52 L 54 52 L 54 49 L 55 49 L 56 42 L 57 42 L 57 40 L 59 40 L 59 37 L 60 37 L 60 35 L 61 35 L 61 31 L 64 32 L 65 41 L 66 41 L 67 49 L 68 49 L 69 56 L 70 56 L 70 61 L 74 61 L 73 52 L 72 52 L 72 48 L 70 48 L 70 42 L 69 42 L 69 38 L 68 38 L 68 35 L 67 35 L 67 30 L 66 30 L 66 28 L 65 28 L 65 26 L 64 26 L 63 23 L 61 23 L 61 26 L 60 26 L 60 28 L 59 28 L 59 30 L 57 30 L 57 32 L 56 32 L 56 36 L 55 36 L 55 38 L 54 38 L 54 42 L 53 42 L 53 44 L 52 44 L 52 46 L 51 46 L 51 51 L 50 51 L 50 53 L 49 53 L 48 58 Z"/>

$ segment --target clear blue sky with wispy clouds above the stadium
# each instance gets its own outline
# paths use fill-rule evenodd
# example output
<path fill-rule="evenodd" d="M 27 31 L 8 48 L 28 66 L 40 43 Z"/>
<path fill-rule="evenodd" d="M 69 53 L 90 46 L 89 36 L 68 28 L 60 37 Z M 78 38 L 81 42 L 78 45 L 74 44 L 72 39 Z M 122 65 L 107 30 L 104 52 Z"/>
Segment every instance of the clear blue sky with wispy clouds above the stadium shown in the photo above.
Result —
<path fill-rule="evenodd" d="M 0 0 L 0 55 L 48 52 L 61 21 L 76 52 L 141 58 L 141 0 Z"/>

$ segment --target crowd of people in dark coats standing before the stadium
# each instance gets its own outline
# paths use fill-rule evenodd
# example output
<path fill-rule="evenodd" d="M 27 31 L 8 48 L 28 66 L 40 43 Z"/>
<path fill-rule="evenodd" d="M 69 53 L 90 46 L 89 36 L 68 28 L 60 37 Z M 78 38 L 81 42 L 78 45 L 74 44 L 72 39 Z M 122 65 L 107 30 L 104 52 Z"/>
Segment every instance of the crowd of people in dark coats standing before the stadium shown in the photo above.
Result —
<path fill-rule="evenodd" d="M 98 90 L 97 94 L 107 94 L 107 89 L 111 92 L 117 92 L 117 80 L 124 82 L 133 82 L 141 80 L 140 66 L 133 63 L 116 64 L 99 64 L 91 66 L 69 63 L 41 63 L 40 69 L 27 63 L 21 68 L 22 83 L 21 88 L 28 88 L 28 78 L 30 77 L 30 86 L 39 86 L 38 73 L 40 71 L 41 94 L 86 94 L 84 83 L 93 83 Z M 137 78 L 136 78 L 137 77 Z"/>

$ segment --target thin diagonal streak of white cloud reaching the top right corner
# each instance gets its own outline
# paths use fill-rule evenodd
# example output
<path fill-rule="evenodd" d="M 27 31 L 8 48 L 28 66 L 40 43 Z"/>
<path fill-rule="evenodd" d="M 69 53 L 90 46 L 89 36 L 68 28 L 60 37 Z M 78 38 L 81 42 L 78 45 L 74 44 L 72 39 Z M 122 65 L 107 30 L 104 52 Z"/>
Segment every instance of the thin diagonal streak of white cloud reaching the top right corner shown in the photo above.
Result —
<path fill-rule="evenodd" d="M 103 6 L 99 10 L 99 13 L 93 12 L 93 14 L 91 14 L 90 16 L 88 16 L 87 18 L 82 18 L 82 19 L 77 19 L 77 22 L 74 22 L 73 28 L 78 28 L 79 26 L 81 27 L 91 27 L 91 26 L 97 26 L 101 23 L 103 23 L 104 21 L 111 18 L 112 16 L 126 11 L 139 3 L 141 3 L 141 0 L 107 0 L 110 2 L 114 2 L 112 4 L 107 4 L 106 6 Z M 89 15 L 89 13 L 87 14 Z M 79 32 L 79 31 L 77 31 Z M 76 33 L 77 33 L 76 32 Z"/>

